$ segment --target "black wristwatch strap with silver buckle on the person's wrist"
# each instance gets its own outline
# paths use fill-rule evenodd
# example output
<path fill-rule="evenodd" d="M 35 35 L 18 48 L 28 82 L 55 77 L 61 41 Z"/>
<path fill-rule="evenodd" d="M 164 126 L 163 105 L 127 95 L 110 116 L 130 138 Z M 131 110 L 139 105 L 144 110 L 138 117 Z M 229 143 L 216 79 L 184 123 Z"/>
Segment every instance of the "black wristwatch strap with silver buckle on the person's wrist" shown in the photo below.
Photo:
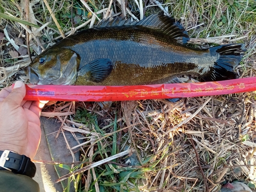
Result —
<path fill-rule="evenodd" d="M 1 170 L 9 170 L 15 174 L 26 175 L 31 178 L 35 176 L 36 167 L 29 157 L 9 150 L 0 151 L 0 156 Z"/>

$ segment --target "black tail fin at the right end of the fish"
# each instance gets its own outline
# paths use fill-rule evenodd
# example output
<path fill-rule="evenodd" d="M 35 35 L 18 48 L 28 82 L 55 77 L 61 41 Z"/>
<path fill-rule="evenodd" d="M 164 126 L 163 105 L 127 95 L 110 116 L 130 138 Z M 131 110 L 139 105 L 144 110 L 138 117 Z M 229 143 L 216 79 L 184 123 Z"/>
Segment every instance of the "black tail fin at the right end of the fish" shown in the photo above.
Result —
<path fill-rule="evenodd" d="M 227 80 L 236 79 L 237 73 L 234 69 L 239 65 L 246 49 L 244 44 L 229 44 L 209 49 L 213 55 L 219 58 L 215 62 L 214 72 L 210 77 L 204 77 L 204 80 Z"/>

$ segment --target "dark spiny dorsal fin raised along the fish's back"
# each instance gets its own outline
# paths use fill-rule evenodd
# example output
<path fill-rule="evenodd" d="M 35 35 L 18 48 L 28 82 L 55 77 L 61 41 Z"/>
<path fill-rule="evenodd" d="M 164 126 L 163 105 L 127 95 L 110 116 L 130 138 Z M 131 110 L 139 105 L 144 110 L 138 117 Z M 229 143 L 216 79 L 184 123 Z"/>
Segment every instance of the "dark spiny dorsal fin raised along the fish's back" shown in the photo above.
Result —
<path fill-rule="evenodd" d="M 174 18 L 161 15 L 152 14 L 143 18 L 141 21 L 131 21 L 131 19 L 125 19 L 124 17 L 116 17 L 114 19 L 102 20 L 95 28 L 103 27 L 120 27 L 120 26 L 143 26 L 151 29 L 157 29 L 167 34 L 170 38 L 182 39 L 183 44 L 189 40 L 189 36 L 182 25 Z"/>

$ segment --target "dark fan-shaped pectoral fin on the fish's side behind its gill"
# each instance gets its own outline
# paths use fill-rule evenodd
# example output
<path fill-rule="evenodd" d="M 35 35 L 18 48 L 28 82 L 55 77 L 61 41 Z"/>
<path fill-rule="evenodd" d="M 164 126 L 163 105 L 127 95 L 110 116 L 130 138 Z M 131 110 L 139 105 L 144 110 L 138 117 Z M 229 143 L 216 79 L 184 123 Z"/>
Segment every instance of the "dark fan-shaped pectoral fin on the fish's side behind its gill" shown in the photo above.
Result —
<path fill-rule="evenodd" d="M 113 63 L 110 59 L 95 59 L 79 69 L 77 77 L 82 77 L 93 82 L 102 82 L 110 75 L 112 69 Z"/>

